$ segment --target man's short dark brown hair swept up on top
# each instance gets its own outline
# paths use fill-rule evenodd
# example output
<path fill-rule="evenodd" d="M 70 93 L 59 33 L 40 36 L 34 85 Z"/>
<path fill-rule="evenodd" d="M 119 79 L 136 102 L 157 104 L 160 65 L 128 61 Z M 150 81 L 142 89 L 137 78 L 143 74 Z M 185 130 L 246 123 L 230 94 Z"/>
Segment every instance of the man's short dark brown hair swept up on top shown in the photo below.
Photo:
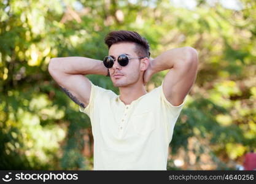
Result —
<path fill-rule="evenodd" d="M 135 52 L 139 57 L 144 57 L 144 56 L 146 56 L 147 58 L 150 57 L 149 42 L 147 42 L 147 39 L 145 39 L 144 37 L 141 37 L 137 32 L 125 31 L 125 30 L 111 31 L 105 37 L 105 44 L 109 48 L 111 48 L 111 45 L 117 44 L 120 42 L 135 43 L 136 44 Z"/>

